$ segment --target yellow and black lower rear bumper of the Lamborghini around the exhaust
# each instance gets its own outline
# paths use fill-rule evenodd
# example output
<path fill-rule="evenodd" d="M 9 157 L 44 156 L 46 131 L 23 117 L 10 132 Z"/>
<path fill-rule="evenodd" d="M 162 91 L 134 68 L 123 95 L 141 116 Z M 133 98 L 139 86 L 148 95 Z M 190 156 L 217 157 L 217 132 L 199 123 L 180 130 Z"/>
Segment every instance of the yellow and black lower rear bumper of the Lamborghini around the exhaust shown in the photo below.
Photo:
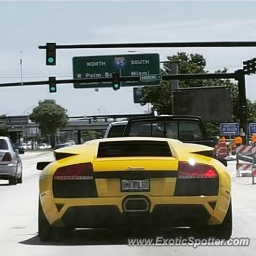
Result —
<path fill-rule="evenodd" d="M 123 197 L 53 198 L 52 191 L 47 190 L 41 194 L 41 202 L 47 220 L 56 227 L 219 225 L 230 201 L 230 194 L 224 192 L 218 196 L 130 194 Z M 146 200 L 138 202 L 137 197 Z M 127 198 L 132 200 L 127 201 Z"/>

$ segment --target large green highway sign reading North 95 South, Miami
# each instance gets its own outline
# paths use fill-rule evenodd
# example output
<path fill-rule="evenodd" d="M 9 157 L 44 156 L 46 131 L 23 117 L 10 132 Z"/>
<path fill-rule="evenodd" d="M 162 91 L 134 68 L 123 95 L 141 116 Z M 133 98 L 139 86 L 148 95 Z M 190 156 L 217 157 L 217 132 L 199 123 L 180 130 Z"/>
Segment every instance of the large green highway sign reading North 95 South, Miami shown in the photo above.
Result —
<path fill-rule="evenodd" d="M 113 73 L 122 76 L 149 76 L 160 73 L 159 54 L 119 54 L 105 56 L 87 56 L 73 58 L 73 77 L 103 78 L 112 77 Z M 158 75 L 159 76 L 159 75 Z M 159 85 L 159 79 L 147 81 L 126 81 L 121 86 Z M 74 88 L 112 87 L 111 82 L 74 83 Z"/>

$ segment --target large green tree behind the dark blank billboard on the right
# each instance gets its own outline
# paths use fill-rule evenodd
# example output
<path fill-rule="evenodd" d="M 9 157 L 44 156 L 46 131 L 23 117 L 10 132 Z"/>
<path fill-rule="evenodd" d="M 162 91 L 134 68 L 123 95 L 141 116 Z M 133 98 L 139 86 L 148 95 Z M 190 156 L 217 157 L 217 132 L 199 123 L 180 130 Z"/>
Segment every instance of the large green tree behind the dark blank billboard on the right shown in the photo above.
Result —
<path fill-rule="evenodd" d="M 172 56 L 167 57 L 170 61 L 177 61 L 179 66 L 179 74 L 197 74 L 207 73 L 205 70 L 206 59 L 202 54 L 186 52 L 178 52 Z M 168 62 L 166 62 L 166 66 Z M 167 66 L 168 68 L 168 66 Z M 170 68 L 170 67 L 169 67 Z M 217 70 L 215 73 L 226 73 L 227 68 Z M 236 82 L 231 82 L 230 79 L 190 79 L 180 80 L 180 87 L 199 87 L 199 86 L 229 86 L 231 89 L 231 97 L 233 99 L 233 120 L 239 121 L 239 101 L 238 101 L 238 86 Z M 154 109 L 159 114 L 171 114 L 171 90 L 169 82 L 163 81 L 160 86 L 145 87 L 144 97 L 142 98 L 142 105 L 150 102 Z M 247 119 L 249 122 L 256 121 L 255 104 L 247 100 Z M 219 134 L 219 123 L 206 123 L 207 130 L 210 135 Z"/>

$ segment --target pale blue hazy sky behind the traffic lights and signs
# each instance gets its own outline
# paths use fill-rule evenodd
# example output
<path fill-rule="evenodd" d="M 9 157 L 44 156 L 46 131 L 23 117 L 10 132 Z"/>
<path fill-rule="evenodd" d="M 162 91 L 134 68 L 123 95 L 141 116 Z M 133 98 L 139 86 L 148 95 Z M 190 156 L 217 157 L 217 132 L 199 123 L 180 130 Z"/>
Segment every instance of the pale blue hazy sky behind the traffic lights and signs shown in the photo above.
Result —
<path fill-rule="evenodd" d="M 134 49 L 57 50 L 57 66 L 45 66 L 39 45 L 196 41 L 256 41 L 254 1 L 0 1 L 0 83 L 73 77 L 73 57 L 129 54 Z M 206 69 L 242 68 L 255 48 L 136 49 L 166 56 L 186 51 L 206 58 Z M 256 75 L 246 76 L 246 94 L 256 100 Z M 72 84 L 0 88 L 0 115 L 31 113 L 39 100 L 55 99 L 70 116 L 144 113 L 132 87 L 74 89 Z"/>

